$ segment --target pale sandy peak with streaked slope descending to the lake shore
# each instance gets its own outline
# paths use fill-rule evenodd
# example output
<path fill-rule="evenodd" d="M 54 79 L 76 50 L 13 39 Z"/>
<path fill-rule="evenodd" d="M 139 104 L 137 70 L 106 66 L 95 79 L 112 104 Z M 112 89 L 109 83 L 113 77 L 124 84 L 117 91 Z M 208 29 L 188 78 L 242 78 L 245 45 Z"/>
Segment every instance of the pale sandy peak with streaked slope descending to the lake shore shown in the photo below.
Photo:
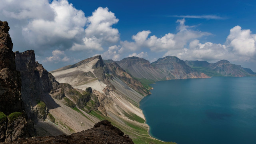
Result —
<path fill-rule="evenodd" d="M 94 56 L 51 73 L 57 81 L 74 88 L 92 88 L 98 107 L 95 110 L 85 107 L 82 111 L 100 120 L 109 120 L 137 143 L 159 142 L 148 136 L 148 125 L 139 108 L 140 100 L 150 92 L 115 62 L 105 64 L 101 56 Z"/>

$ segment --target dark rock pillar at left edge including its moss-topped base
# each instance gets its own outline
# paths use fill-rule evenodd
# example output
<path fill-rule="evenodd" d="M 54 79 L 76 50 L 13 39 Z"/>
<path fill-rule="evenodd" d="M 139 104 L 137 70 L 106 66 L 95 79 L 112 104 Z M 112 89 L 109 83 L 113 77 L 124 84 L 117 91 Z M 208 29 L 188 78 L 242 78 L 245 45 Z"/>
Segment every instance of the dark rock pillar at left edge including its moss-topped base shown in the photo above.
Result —
<path fill-rule="evenodd" d="M 0 21 L 0 142 L 30 136 L 9 29 Z"/>

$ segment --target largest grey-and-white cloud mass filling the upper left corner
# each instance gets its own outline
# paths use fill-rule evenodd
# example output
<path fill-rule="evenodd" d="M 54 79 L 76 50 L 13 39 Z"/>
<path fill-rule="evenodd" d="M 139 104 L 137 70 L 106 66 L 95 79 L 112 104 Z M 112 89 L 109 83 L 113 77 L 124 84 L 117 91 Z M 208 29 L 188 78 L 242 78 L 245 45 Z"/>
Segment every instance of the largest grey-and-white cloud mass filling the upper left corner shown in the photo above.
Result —
<path fill-rule="evenodd" d="M 82 40 L 87 21 L 84 12 L 67 0 L 2 0 L 0 12 L 11 26 L 15 44 L 42 52 L 68 49 Z"/>

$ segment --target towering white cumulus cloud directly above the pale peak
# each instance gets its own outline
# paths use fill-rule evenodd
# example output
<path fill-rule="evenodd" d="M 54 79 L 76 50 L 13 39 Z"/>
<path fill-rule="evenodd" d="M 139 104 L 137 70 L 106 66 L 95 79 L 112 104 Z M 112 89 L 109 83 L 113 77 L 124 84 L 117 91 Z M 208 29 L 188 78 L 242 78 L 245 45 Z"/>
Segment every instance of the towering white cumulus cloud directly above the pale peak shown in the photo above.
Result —
<path fill-rule="evenodd" d="M 120 40 L 118 29 L 112 28 L 119 20 L 108 8 L 99 7 L 88 17 L 90 23 L 85 29 L 85 37 L 82 44 L 74 44 L 72 50 L 103 50 L 102 46 L 108 46 Z"/>

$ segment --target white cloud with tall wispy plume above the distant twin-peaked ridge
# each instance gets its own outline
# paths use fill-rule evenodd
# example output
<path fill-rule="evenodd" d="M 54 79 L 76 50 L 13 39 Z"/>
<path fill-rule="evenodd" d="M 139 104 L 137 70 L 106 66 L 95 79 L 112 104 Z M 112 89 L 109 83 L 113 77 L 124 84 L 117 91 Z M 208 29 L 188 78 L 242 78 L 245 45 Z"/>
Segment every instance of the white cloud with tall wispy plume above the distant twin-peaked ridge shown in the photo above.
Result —
<path fill-rule="evenodd" d="M 120 53 L 126 51 L 136 51 L 140 48 L 149 48 L 153 52 L 166 52 L 170 50 L 182 50 L 186 44 L 196 38 L 202 36 L 208 36 L 210 33 L 191 30 L 194 26 L 186 26 L 185 19 L 177 20 L 178 32 L 176 34 L 168 33 L 158 38 L 153 35 L 149 37 L 151 33 L 149 30 L 143 30 L 132 36 L 134 42 L 123 41 L 120 42 Z"/>

